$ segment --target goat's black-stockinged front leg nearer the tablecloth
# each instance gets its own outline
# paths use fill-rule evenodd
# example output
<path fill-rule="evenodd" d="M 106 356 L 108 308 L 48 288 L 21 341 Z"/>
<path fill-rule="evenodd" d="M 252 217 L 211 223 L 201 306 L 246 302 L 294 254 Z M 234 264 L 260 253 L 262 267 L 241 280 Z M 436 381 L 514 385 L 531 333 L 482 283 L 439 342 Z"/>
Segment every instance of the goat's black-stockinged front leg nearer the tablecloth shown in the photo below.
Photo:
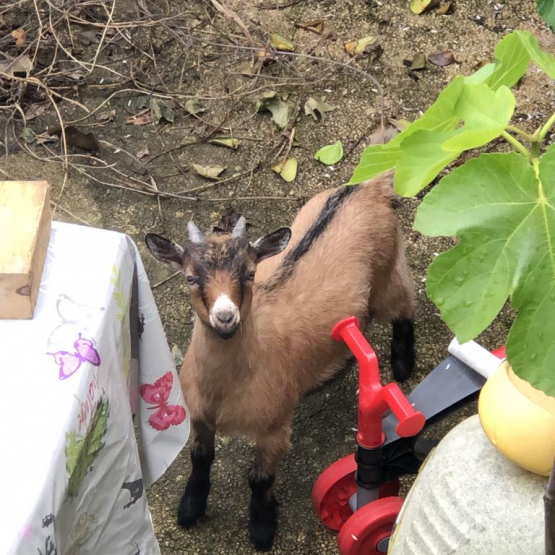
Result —
<path fill-rule="evenodd" d="M 192 470 L 177 512 L 177 522 L 183 528 L 190 528 L 206 513 L 206 501 L 210 492 L 210 468 L 214 462 L 215 426 L 201 420 L 193 420 L 191 428 Z"/>

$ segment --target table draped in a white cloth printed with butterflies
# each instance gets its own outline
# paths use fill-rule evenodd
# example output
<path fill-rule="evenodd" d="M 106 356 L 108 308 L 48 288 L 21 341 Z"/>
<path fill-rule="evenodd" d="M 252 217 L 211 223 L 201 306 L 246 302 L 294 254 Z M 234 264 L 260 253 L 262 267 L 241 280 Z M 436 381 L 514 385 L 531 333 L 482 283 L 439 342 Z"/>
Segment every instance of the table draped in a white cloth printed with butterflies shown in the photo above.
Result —
<path fill-rule="evenodd" d="M 190 421 L 129 237 L 53 222 L 33 320 L 0 321 L 0 376 L 0 554 L 159 554 L 145 488 Z"/>

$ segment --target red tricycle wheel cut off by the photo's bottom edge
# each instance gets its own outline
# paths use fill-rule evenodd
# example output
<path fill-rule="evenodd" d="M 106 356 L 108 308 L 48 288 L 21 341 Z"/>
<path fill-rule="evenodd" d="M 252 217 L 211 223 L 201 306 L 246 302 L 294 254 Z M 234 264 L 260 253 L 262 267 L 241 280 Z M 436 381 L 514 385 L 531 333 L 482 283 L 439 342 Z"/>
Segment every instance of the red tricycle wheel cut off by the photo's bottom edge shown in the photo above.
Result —
<path fill-rule="evenodd" d="M 403 506 L 402 497 L 384 497 L 356 511 L 341 528 L 337 543 L 341 555 L 383 555 L 397 515 Z"/>

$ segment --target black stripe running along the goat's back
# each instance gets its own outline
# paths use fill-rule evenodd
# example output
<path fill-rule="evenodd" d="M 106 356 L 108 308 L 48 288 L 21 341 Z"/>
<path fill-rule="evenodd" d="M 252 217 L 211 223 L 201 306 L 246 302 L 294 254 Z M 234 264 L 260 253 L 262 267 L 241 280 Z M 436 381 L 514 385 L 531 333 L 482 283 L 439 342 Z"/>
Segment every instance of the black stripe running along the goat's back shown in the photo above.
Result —
<path fill-rule="evenodd" d="M 262 284 L 262 289 L 271 291 L 283 285 L 292 276 L 297 262 L 311 249 L 315 241 L 318 240 L 318 237 L 326 231 L 345 199 L 357 190 L 357 185 L 347 185 L 338 189 L 328 198 L 322 211 L 318 214 L 318 217 L 314 220 L 303 238 L 287 253 L 283 262 L 272 276 Z"/>

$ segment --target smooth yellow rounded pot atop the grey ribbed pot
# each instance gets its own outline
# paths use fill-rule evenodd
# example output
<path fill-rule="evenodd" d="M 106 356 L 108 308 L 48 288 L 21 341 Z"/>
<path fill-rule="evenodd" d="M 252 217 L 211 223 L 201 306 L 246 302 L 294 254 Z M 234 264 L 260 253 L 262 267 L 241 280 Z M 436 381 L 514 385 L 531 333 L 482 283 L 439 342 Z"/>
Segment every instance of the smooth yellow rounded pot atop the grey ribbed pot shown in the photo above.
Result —
<path fill-rule="evenodd" d="M 555 397 L 519 378 L 508 362 L 485 383 L 478 401 L 484 432 L 521 467 L 549 476 L 555 457 Z"/>

